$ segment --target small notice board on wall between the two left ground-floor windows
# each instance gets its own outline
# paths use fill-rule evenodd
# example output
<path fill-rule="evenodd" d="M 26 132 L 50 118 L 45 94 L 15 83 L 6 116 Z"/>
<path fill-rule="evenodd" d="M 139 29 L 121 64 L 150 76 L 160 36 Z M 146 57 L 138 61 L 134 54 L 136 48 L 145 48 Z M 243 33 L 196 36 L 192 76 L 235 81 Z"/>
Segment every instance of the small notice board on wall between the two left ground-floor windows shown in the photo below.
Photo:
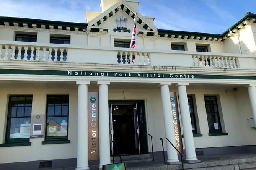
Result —
<path fill-rule="evenodd" d="M 44 115 L 31 115 L 30 138 L 44 137 Z"/>

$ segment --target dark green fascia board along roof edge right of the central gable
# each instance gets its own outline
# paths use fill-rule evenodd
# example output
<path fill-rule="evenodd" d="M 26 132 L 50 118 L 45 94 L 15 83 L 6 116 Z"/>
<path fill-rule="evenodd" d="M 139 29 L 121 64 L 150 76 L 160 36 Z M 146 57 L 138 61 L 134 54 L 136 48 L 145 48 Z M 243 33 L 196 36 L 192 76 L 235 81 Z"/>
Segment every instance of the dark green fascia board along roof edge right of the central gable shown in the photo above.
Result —
<path fill-rule="evenodd" d="M 158 35 L 181 35 L 181 36 L 194 36 L 194 37 L 212 37 L 212 38 L 222 38 L 222 34 L 209 34 L 201 32 L 189 32 L 189 31 L 174 31 L 166 29 L 158 29 Z"/>

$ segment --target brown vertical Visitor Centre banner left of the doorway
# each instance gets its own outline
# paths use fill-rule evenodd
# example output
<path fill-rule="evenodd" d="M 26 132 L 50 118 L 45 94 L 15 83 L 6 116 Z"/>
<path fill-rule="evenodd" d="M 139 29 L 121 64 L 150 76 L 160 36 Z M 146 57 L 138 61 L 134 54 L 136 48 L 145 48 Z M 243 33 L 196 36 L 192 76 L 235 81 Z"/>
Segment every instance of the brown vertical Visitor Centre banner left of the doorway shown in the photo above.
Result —
<path fill-rule="evenodd" d="M 99 92 L 88 92 L 88 160 L 99 160 Z"/>

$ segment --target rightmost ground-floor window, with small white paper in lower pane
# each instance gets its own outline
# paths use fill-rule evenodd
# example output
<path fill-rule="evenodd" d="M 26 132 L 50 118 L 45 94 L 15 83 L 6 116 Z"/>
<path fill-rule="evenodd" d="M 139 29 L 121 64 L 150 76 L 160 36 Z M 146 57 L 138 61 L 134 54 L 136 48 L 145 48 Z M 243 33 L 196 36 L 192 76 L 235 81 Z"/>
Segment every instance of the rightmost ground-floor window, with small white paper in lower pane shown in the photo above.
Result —
<path fill-rule="evenodd" d="M 207 121 L 210 133 L 221 133 L 220 115 L 216 96 L 204 96 Z"/>

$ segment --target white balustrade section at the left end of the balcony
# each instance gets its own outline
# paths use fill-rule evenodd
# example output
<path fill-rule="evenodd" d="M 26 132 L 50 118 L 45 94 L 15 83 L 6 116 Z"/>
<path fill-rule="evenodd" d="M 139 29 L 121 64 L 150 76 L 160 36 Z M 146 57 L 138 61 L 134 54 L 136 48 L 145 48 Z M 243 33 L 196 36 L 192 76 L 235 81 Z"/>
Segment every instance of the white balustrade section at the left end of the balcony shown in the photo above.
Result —
<path fill-rule="evenodd" d="M 0 45 L 0 59 L 67 61 L 67 49 L 57 47 Z"/>

